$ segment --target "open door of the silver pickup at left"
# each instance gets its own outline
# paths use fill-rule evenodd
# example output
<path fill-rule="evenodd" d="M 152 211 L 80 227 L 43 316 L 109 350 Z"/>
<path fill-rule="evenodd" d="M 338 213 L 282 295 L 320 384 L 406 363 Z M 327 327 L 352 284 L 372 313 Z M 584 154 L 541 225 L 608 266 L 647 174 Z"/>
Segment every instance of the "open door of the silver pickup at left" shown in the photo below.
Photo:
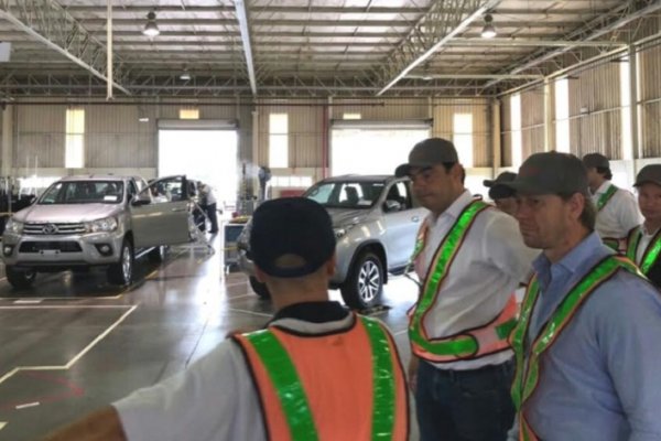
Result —
<path fill-rule="evenodd" d="M 177 245 L 191 240 L 186 176 L 167 176 L 150 183 L 130 206 L 136 247 Z"/>

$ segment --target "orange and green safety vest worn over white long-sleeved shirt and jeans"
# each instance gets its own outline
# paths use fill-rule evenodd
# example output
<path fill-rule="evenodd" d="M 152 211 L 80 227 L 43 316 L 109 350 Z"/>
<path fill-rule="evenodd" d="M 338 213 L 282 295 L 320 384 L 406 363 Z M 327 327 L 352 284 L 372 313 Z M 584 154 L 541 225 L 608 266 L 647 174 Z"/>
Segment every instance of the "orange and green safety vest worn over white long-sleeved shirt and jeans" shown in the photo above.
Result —
<path fill-rule="evenodd" d="M 411 349 L 421 358 L 433 363 L 451 363 L 475 359 L 510 348 L 508 335 L 517 322 L 517 301 L 513 293 L 498 316 L 481 326 L 458 332 L 449 337 L 435 338 L 427 334 L 423 325 L 425 315 L 436 303 L 443 281 L 468 230 L 479 213 L 489 207 L 490 205 L 481 201 L 468 204 L 436 249 L 420 299 L 409 314 Z M 426 227 L 423 226 L 418 235 L 413 260 L 424 248 L 425 237 Z"/>

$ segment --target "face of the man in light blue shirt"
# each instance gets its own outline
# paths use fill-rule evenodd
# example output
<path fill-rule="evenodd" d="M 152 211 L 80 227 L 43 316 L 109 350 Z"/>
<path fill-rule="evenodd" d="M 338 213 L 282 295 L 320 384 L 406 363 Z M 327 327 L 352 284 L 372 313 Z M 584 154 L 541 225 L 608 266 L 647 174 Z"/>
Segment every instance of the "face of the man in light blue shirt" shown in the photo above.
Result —
<path fill-rule="evenodd" d="M 552 249 L 560 246 L 572 227 L 570 204 L 557 195 L 520 195 L 517 219 L 523 241 L 530 248 Z"/>

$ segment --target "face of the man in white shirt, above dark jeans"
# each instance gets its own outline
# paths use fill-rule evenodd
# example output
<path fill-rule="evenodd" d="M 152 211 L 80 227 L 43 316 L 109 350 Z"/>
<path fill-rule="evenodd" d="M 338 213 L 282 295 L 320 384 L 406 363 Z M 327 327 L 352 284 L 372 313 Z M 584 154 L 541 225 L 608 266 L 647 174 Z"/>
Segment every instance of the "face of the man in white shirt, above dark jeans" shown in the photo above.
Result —
<path fill-rule="evenodd" d="M 440 215 L 456 198 L 462 189 L 459 164 L 454 164 L 448 171 L 443 164 L 430 168 L 411 169 L 413 193 L 423 207 Z"/>

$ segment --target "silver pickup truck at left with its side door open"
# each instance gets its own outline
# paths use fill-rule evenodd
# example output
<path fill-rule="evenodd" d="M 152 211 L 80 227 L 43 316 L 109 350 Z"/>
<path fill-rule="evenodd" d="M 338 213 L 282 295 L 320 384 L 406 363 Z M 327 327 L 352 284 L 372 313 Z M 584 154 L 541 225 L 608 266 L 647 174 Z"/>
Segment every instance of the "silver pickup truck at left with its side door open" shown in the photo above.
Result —
<path fill-rule="evenodd" d="M 150 185 L 133 176 L 68 176 L 15 213 L 2 236 L 8 281 L 28 288 L 37 272 L 106 266 L 129 284 L 137 256 L 162 260 L 165 246 L 191 240 L 185 176 Z"/>

